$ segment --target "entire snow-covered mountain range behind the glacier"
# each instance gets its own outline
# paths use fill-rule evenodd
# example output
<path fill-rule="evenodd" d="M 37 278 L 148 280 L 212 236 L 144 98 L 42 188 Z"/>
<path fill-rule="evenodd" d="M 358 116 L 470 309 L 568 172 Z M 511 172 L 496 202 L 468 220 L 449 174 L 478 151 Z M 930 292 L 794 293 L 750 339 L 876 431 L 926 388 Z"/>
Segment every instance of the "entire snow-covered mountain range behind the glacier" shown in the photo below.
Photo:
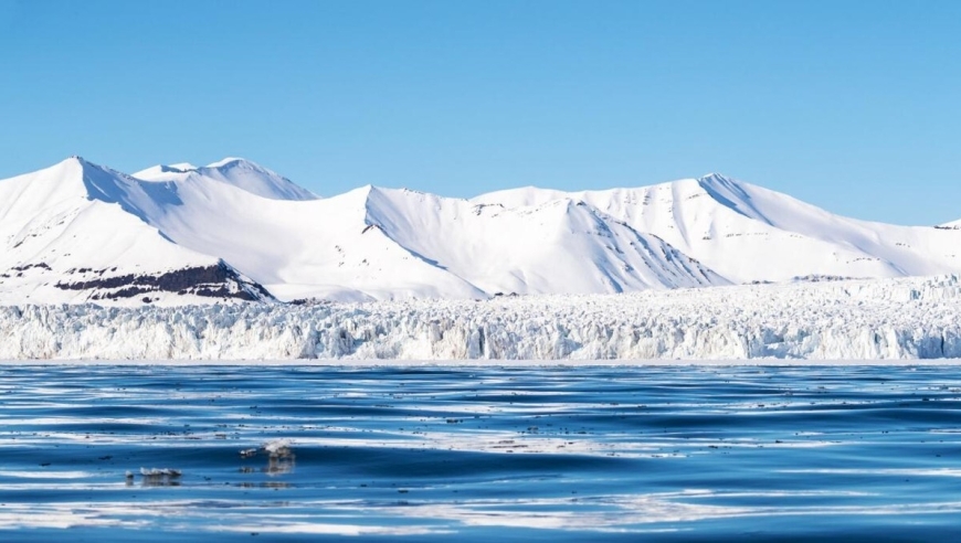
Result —
<path fill-rule="evenodd" d="M 0 304 L 487 298 L 961 273 L 961 230 L 841 217 L 707 175 L 461 200 L 320 199 L 243 159 L 0 181 Z M 959 254 L 955 254 L 959 251 Z"/>

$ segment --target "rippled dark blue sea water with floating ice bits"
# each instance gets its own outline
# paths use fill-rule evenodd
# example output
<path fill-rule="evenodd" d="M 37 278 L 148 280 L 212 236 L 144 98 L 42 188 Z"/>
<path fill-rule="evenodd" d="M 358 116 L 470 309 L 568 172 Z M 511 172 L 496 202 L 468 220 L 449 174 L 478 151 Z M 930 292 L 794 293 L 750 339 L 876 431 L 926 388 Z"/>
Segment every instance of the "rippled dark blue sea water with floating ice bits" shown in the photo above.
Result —
<path fill-rule="evenodd" d="M 959 541 L 961 368 L 0 368 L 0 541 Z"/>

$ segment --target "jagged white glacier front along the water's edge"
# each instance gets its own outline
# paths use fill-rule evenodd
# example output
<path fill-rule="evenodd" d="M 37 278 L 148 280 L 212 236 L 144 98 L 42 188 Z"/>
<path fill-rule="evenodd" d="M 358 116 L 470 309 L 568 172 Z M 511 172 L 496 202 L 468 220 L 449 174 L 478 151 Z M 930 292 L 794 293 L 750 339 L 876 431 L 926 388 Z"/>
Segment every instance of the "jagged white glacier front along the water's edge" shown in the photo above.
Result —
<path fill-rule="evenodd" d="M 483 300 L 0 307 L 7 360 L 961 358 L 961 276 Z"/>

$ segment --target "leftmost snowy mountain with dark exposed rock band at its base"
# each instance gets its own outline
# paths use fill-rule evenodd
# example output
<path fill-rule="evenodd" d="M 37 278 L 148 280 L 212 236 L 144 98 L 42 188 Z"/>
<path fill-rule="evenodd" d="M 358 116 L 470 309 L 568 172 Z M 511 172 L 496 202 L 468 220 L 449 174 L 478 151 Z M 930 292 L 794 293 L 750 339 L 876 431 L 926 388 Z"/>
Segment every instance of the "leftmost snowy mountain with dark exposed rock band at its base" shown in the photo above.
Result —
<path fill-rule="evenodd" d="M 80 158 L 0 181 L 0 300 L 268 297 L 220 258 L 179 246 L 130 214 L 118 183 L 122 174 Z"/>

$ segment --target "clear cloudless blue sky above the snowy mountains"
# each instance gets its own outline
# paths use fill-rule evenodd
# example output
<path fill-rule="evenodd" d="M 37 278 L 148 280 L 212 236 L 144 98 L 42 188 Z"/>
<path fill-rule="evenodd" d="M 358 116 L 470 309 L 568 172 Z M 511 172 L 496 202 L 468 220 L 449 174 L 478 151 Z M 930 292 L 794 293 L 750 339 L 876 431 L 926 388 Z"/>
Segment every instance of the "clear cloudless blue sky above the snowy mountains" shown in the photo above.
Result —
<path fill-rule="evenodd" d="M 321 195 L 717 171 L 961 219 L 961 1 L 0 0 L 0 178 L 260 162 Z"/>

